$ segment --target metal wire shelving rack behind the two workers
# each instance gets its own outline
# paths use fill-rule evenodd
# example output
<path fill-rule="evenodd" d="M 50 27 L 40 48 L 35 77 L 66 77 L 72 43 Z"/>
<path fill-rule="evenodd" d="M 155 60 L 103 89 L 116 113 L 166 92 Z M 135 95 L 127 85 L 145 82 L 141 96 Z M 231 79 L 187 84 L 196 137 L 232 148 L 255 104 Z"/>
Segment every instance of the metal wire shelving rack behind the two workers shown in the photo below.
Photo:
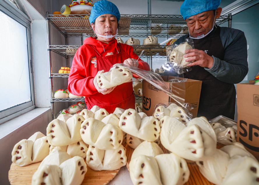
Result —
<path fill-rule="evenodd" d="M 89 23 L 90 15 L 49 15 L 46 14 L 47 30 L 48 30 L 48 55 L 49 55 L 49 79 L 52 117 L 54 118 L 54 102 L 57 101 L 84 101 L 84 98 L 53 98 L 53 77 L 68 78 L 69 74 L 52 73 L 51 52 L 57 53 L 66 58 L 66 66 L 68 66 L 68 58 L 73 58 L 80 45 L 68 45 L 68 37 L 90 37 L 94 36 L 94 32 Z M 217 25 L 221 25 L 228 21 L 231 27 L 232 16 L 220 16 L 216 20 Z M 52 45 L 50 42 L 50 24 L 53 25 L 64 37 L 65 45 Z M 157 26 L 159 25 L 159 26 Z M 173 37 L 175 39 L 187 34 L 188 28 L 186 22 L 181 15 L 121 15 L 119 21 L 118 37 L 148 37 L 154 35 L 156 37 Z M 81 39 L 82 44 L 82 39 Z M 133 45 L 134 52 L 139 55 L 145 50 L 142 58 L 148 58 L 152 68 L 152 58 L 165 58 L 166 46 L 143 46 Z M 142 97 L 135 96 L 136 100 Z"/>

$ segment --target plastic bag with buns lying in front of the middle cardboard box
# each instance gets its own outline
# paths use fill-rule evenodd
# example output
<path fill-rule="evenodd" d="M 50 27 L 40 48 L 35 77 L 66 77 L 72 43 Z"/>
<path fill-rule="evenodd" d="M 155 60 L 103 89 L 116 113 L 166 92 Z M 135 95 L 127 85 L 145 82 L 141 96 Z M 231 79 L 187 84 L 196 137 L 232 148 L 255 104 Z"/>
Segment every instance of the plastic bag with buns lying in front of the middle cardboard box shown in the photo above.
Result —
<path fill-rule="evenodd" d="M 185 124 L 193 117 L 187 108 L 182 108 L 176 103 L 159 103 L 154 110 L 153 116 L 158 120 L 161 120 L 164 116 L 170 116 Z"/>

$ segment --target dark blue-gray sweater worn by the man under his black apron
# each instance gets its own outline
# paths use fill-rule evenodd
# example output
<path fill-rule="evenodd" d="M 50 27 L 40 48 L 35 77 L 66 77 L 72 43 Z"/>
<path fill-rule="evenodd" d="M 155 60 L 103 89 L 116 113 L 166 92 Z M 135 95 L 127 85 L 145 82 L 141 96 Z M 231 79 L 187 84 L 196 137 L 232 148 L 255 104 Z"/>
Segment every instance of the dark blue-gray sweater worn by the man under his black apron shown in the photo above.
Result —
<path fill-rule="evenodd" d="M 185 42 L 188 37 L 189 34 L 180 37 L 175 44 Z M 241 30 L 220 27 L 220 38 L 224 47 L 224 60 L 213 56 L 213 67 L 204 69 L 223 82 L 237 84 L 248 72 L 246 37 Z"/>

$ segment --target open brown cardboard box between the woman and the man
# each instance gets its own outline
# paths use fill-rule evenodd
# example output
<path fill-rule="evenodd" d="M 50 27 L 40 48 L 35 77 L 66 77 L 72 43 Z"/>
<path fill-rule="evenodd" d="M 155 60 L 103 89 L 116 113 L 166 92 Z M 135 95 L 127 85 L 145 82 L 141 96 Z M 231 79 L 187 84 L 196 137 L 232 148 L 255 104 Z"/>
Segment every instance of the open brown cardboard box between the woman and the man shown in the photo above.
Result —
<path fill-rule="evenodd" d="M 190 103 L 194 109 L 190 112 L 193 117 L 197 116 L 198 106 L 200 101 L 200 90 L 202 81 L 187 79 L 187 82 L 168 82 L 171 79 L 183 79 L 173 76 L 162 76 L 165 84 L 172 91 L 173 94 L 184 98 L 185 103 Z M 157 87 L 154 87 L 149 82 L 143 80 L 143 112 L 148 116 L 154 113 L 155 107 L 158 103 L 174 103 L 174 100 L 170 98 L 165 92 L 161 91 Z"/>

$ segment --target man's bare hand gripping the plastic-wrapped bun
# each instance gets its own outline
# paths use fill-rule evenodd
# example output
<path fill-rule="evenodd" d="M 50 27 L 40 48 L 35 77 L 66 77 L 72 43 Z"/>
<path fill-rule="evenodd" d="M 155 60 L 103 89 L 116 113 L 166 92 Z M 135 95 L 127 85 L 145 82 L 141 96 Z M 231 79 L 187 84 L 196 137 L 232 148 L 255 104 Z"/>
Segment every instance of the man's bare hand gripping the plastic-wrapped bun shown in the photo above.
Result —
<path fill-rule="evenodd" d="M 187 58 L 186 62 L 191 62 L 187 64 L 188 67 L 199 65 L 203 68 L 212 68 L 214 60 L 211 56 L 207 55 L 204 51 L 198 49 L 188 49 L 185 51 L 184 57 Z M 188 58 L 190 57 L 190 58 Z"/>

